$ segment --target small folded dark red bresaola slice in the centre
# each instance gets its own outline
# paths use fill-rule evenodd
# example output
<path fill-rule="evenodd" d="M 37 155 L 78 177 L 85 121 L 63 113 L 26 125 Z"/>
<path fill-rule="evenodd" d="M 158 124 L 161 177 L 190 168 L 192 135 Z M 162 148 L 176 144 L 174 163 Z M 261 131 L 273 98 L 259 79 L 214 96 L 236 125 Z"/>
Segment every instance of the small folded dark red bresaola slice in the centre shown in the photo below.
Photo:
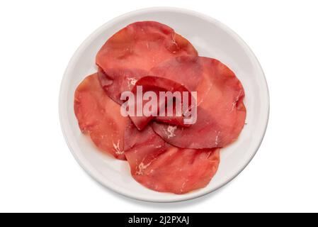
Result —
<path fill-rule="evenodd" d="M 171 79 L 166 79 L 163 77 L 142 77 L 142 79 L 139 79 L 135 87 L 132 89 L 132 93 L 135 94 L 135 97 L 137 97 L 137 87 L 140 86 L 142 87 L 142 95 L 144 95 L 145 92 L 154 92 L 154 94 L 157 95 L 157 99 L 154 101 L 157 103 L 157 109 L 150 109 L 149 108 L 149 114 L 155 114 L 153 116 L 137 116 L 137 100 L 135 99 L 135 105 L 132 106 L 133 109 L 135 109 L 134 113 L 130 116 L 130 119 L 132 122 L 135 124 L 135 126 L 139 129 L 142 130 L 144 126 L 149 123 L 149 121 L 152 120 L 152 118 L 157 118 L 157 121 L 163 121 L 163 122 L 169 122 L 169 123 L 174 123 L 177 125 L 185 126 L 183 123 L 183 117 L 182 117 L 182 108 L 178 109 L 178 114 L 176 114 L 176 99 L 173 99 L 172 101 L 169 101 L 168 99 L 161 99 L 159 100 L 159 92 L 171 92 L 171 94 L 174 94 L 174 92 L 180 92 L 180 97 L 178 97 L 178 101 L 183 103 L 183 98 L 182 98 L 182 93 L 183 92 L 188 92 L 189 90 L 183 87 L 181 84 L 178 84 L 174 82 Z M 161 102 L 160 102 L 161 101 Z M 142 102 L 142 109 L 146 107 L 145 105 L 151 101 L 143 101 Z M 188 106 L 191 106 L 191 94 L 188 94 L 188 100 L 187 100 Z M 173 115 L 168 116 L 167 114 L 167 109 L 169 109 L 167 106 L 170 105 L 171 109 L 173 110 Z M 159 116 L 159 109 L 164 109 L 165 114 L 164 116 Z M 158 117 L 157 117 L 158 116 Z"/>

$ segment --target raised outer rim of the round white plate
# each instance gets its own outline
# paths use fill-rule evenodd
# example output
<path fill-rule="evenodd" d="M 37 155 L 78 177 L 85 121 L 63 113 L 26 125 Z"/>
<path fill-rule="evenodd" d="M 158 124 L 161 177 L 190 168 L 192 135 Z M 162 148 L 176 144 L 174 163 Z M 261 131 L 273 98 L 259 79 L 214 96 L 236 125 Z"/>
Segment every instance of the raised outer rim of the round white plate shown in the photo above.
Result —
<path fill-rule="evenodd" d="M 201 192 L 198 194 L 183 194 L 182 197 L 178 197 L 178 196 L 174 196 L 174 198 L 171 199 L 149 199 L 146 197 L 143 197 L 140 194 L 129 194 L 127 192 L 125 192 L 124 190 L 120 189 L 120 187 L 116 187 L 115 185 L 113 185 L 111 182 L 106 183 L 105 179 L 103 179 L 103 175 L 101 175 L 100 172 L 98 172 L 87 160 L 85 157 L 81 157 L 81 155 L 79 155 L 79 153 L 76 153 L 76 151 L 73 149 L 71 143 L 69 142 L 69 138 L 66 132 L 66 128 L 65 126 L 65 121 L 67 121 L 67 118 L 65 118 L 63 116 L 63 111 L 65 111 L 64 107 L 63 107 L 63 102 L 64 102 L 64 91 L 66 90 L 64 87 L 66 87 L 67 84 L 67 74 L 69 74 L 69 70 L 70 68 L 72 68 L 72 66 L 75 64 L 77 58 L 79 58 L 81 51 L 83 51 L 84 47 L 96 36 L 96 34 L 100 33 L 101 31 L 103 31 L 104 29 L 106 29 L 108 26 L 110 26 L 113 22 L 118 21 L 120 19 L 126 18 L 126 17 L 130 17 L 130 16 L 134 16 L 137 15 L 139 13 L 149 13 L 149 12 L 154 12 L 154 11 L 171 11 L 171 12 L 178 12 L 178 13 L 186 13 L 188 15 L 192 15 L 192 16 L 198 16 L 200 18 L 203 18 L 207 21 L 210 21 L 211 23 L 215 23 L 216 26 L 220 26 L 220 28 L 224 29 L 227 33 L 229 33 L 229 35 L 232 35 L 235 40 L 237 40 L 239 42 L 239 45 L 242 46 L 242 48 L 244 48 L 244 51 L 249 55 L 249 57 L 252 57 L 254 62 L 256 63 L 256 67 L 259 68 L 259 72 L 261 74 L 261 77 L 263 78 L 263 82 L 264 85 L 266 87 L 266 95 L 264 94 L 264 97 L 266 97 L 266 100 L 263 100 L 263 105 L 266 107 L 266 119 L 264 122 L 264 126 L 263 126 L 263 132 L 261 137 L 259 138 L 259 143 L 256 146 L 254 153 L 251 155 L 251 157 L 249 157 L 249 160 L 239 169 L 237 170 L 236 174 L 232 175 L 232 177 L 229 177 L 229 179 L 227 179 L 227 181 L 223 182 L 222 184 L 218 185 L 217 187 L 208 190 L 207 192 Z M 265 103 L 266 102 L 266 103 Z M 94 180 L 96 180 L 96 182 L 98 182 L 99 184 L 103 185 L 103 187 L 106 187 L 107 189 L 112 190 L 113 192 L 116 192 L 118 194 L 122 194 L 128 198 L 131 199 L 136 199 L 136 200 L 140 200 L 140 201 L 147 201 L 147 202 L 159 202 L 159 203 L 170 203 L 170 202 L 178 202 L 178 201 L 187 201 L 190 199 L 196 199 L 198 197 L 201 196 L 205 196 L 207 194 L 210 194 L 211 192 L 215 192 L 218 189 L 220 189 L 221 187 L 224 187 L 227 183 L 231 182 L 232 179 L 234 179 L 235 177 L 237 177 L 237 175 L 239 175 L 245 168 L 247 165 L 249 165 L 249 162 L 251 162 L 251 160 L 254 158 L 254 156 L 256 155 L 257 151 L 259 150 L 259 147 L 261 146 L 261 143 L 263 141 L 263 138 L 266 134 L 266 129 L 268 127 L 268 120 L 269 120 L 269 114 L 270 114 L 270 96 L 269 96 L 269 89 L 268 89 L 268 83 L 265 77 L 265 74 L 263 72 L 263 69 L 261 67 L 261 64 L 259 63 L 259 60 L 257 59 L 256 55 L 254 54 L 254 52 L 251 50 L 251 48 L 249 48 L 249 45 L 247 45 L 245 43 L 245 41 L 239 36 L 237 35 L 237 33 L 235 33 L 234 31 L 232 31 L 231 28 L 229 28 L 228 26 L 226 26 L 225 24 L 221 23 L 220 21 L 217 21 L 215 18 L 212 18 L 211 16 L 205 15 L 203 13 L 199 13 L 197 11 L 192 11 L 189 9 L 182 9 L 182 8 L 176 8 L 176 7 L 150 7 L 150 8 L 144 8 L 144 9 L 138 9 L 135 11 L 130 11 L 128 13 L 124 13 L 123 15 L 117 16 L 113 19 L 111 19 L 110 21 L 103 23 L 102 26 L 100 26 L 99 28 L 97 28 L 95 31 L 93 31 L 93 33 L 91 33 L 82 43 L 81 45 L 79 45 L 79 48 L 76 49 L 76 51 L 74 52 L 74 54 L 72 55 L 71 59 L 69 60 L 69 63 L 67 65 L 66 70 L 64 71 L 63 74 L 63 78 L 62 78 L 62 82 L 60 84 L 60 89 L 59 89 L 59 124 L 60 127 L 62 129 L 62 134 L 64 136 L 64 140 L 67 143 L 67 146 L 69 148 L 69 150 L 71 151 L 72 155 L 74 156 L 76 162 L 79 163 L 79 165 L 81 166 L 81 168 L 84 170 L 84 172 L 86 172 L 86 174 L 88 174 L 91 178 L 93 178 Z"/>

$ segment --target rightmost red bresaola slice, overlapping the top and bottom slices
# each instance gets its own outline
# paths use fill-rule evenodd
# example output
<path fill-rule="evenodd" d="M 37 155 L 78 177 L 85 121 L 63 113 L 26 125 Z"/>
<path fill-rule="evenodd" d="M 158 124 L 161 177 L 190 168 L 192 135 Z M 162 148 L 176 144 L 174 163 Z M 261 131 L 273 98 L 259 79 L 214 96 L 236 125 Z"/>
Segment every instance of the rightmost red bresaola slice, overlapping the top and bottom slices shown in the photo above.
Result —
<path fill-rule="evenodd" d="M 232 143 L 242 131 L 246 109 L 242 84 L 226 65 L 208 57 L 176 57 L 154 67 L 149 74 L 174 77 L 179 82 L 176 73 L 189 71 L 187 59 L 201 69 L 201 75 L 196 75 L 200 78 L 197 86 L 190 89 L 198 92 L 198 119 L 188 128 L 156 122 L 154 131 L 179 148 L 217 148 Z"/>

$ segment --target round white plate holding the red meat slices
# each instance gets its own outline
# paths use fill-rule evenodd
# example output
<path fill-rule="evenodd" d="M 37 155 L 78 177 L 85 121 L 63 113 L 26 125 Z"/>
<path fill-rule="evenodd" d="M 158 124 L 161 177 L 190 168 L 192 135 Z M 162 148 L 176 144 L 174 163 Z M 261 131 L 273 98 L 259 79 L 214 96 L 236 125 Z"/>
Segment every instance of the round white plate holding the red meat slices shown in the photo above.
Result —
<path fill-rule="evenodd" d="M 239 139 L 221 150 L 219 170 L 210 184 L 188 194 L 154 192 L 135 182 L 127 162 L 99 152 L 81 133 L 73 102 L 77 85 L 96 72 L 95 56 L 111 35 L 135 21 L 159 21 L 191 41 L 199 55 L 213 57 L 229 66 L 241 80 L 246 98 L 246 125 Z M 253 52 L 232 30 L 219 21 L 184 9 L 152 8 L 127 13 L 98 28 L 75 52 L 62 80 L 59 118 L 69 149 L 86 172 L 115 192 L 144 201 L 182 201 L 213 192 L 236 177 L 254 157 L 268 122 L 269 96 L 266 79 Z"/>

